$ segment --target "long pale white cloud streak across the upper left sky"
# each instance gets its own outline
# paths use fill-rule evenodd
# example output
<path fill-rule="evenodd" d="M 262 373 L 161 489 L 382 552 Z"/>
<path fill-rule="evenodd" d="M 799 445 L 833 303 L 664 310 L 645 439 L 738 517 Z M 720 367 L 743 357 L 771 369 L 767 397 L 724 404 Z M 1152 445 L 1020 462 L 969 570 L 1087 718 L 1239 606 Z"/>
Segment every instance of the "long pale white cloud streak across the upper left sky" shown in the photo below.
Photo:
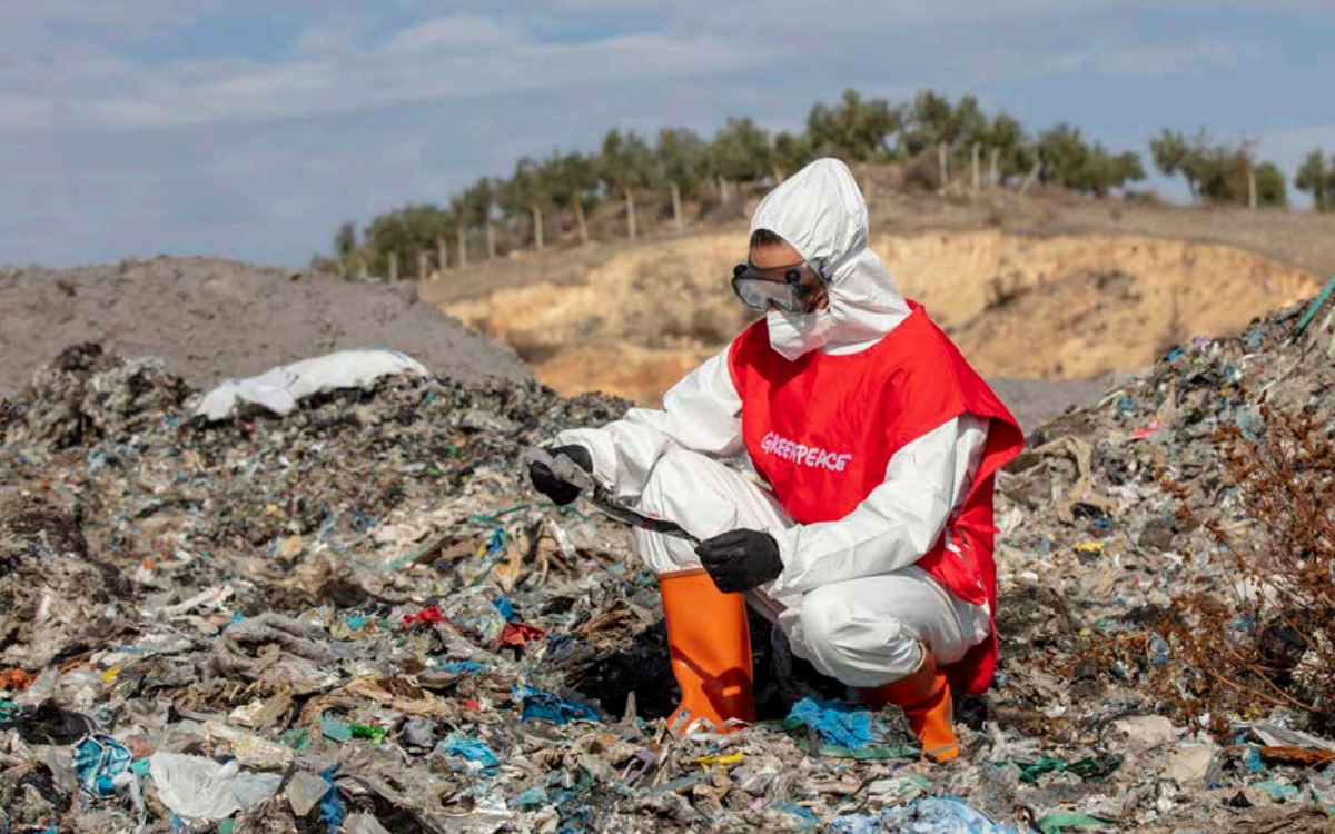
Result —
<path fill-rule="evenodd" d="M 116 65 L 103 56 L 71 59 L 53 71 L 45 99 L 29 92 L 24 127 L 43 101 L 49 120 L 91 129 L 164 128 L 223 120 L 287 119 L 392 103 L 502 95 L 573 84 L 623 84 L 754 65 L 773 56 L 736 51 L 712 36 L 617 35 L 583 44 L 526 39 L 489 19 L 450 16 L 414 27 L 343 59 L 303 56 L 276 63 L 178 63 L 163 69 Z M 89 61 L 103 72 L 92 79 Z"/>

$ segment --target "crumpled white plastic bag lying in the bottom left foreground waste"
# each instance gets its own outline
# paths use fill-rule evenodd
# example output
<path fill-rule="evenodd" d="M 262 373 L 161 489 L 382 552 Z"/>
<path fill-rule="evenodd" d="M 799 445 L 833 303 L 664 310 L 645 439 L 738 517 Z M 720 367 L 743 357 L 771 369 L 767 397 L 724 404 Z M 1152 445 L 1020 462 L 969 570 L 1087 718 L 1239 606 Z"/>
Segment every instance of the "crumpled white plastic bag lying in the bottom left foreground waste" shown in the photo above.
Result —
<path fill-rule="evenodd" d="M 218 822 L 250 810 L 272 797 L 283 781 L 276 773 L 242 771 L 235 759 L 219 765 L 182 753 L 152 754 L 148 774 L 163 805 L 178 817 L 196 822 Z"/>

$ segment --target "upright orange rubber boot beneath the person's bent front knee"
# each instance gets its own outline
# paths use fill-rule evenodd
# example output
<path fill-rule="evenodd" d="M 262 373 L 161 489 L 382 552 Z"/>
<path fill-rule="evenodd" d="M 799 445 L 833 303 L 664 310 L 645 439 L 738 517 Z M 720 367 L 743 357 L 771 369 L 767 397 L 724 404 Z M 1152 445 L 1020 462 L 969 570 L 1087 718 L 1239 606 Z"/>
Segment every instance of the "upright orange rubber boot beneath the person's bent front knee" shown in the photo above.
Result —
<path fill-rule="evenodd" d="M 714 726 L 733 718 L 754 722 L 750 631 L 742 595 L 720 591 L 702 567 L 659 575 L 658 590 L 672 670 L 681 686 L 681 705 L 668 727 L 686 731 L 700 719 Z"/>

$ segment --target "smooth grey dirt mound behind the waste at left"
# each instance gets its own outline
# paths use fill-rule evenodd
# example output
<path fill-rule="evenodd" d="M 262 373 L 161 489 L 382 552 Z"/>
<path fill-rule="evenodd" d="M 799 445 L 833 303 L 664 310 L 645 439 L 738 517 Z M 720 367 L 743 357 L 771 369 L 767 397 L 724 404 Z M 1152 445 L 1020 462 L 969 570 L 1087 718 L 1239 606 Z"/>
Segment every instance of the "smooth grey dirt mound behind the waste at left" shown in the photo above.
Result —
<path fill-rule="evenodd" d="M 69 344 L 160 356 L 192 386 L 248 376 L 342 348 L 390 347 L 477 382 L 530 379 L 495 344 L 387 287 L 211 258 L 156 258 L 75 270 L 0 271 L 0 392 L 32 380 Z"/>

